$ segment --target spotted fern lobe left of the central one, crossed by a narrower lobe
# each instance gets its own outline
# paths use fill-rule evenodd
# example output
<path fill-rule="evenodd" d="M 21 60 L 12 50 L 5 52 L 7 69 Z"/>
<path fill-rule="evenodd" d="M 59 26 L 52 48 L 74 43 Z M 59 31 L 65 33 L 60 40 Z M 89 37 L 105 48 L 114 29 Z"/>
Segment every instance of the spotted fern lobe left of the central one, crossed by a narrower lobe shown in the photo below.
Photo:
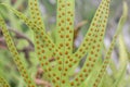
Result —
<path fill-rule="evenodd" d="M 44 24 L 41 18 L 41 13 L 38 9 L 38 1 L 29 0 L 28 5 L 29 5 L 28 8 L 30 11 L 30 15 L 31 15 L 30 17 L 31 22 L 36 24 L 41 30 L 46 32 Z M 34 36 L 35 36 L 36 53 L 44 71 L 44 77 L 48 78 L 48 75 L 50 74 L 49 70 L 52 70 L 52 67 L 50 66 L 50 62 L 49 62 L 49 59 L 53 58 L 52 51 L 51 51 L 52 49 L 48 48 L 48 42 L 41 40 L 38 34 L 34 34 Z"/>

